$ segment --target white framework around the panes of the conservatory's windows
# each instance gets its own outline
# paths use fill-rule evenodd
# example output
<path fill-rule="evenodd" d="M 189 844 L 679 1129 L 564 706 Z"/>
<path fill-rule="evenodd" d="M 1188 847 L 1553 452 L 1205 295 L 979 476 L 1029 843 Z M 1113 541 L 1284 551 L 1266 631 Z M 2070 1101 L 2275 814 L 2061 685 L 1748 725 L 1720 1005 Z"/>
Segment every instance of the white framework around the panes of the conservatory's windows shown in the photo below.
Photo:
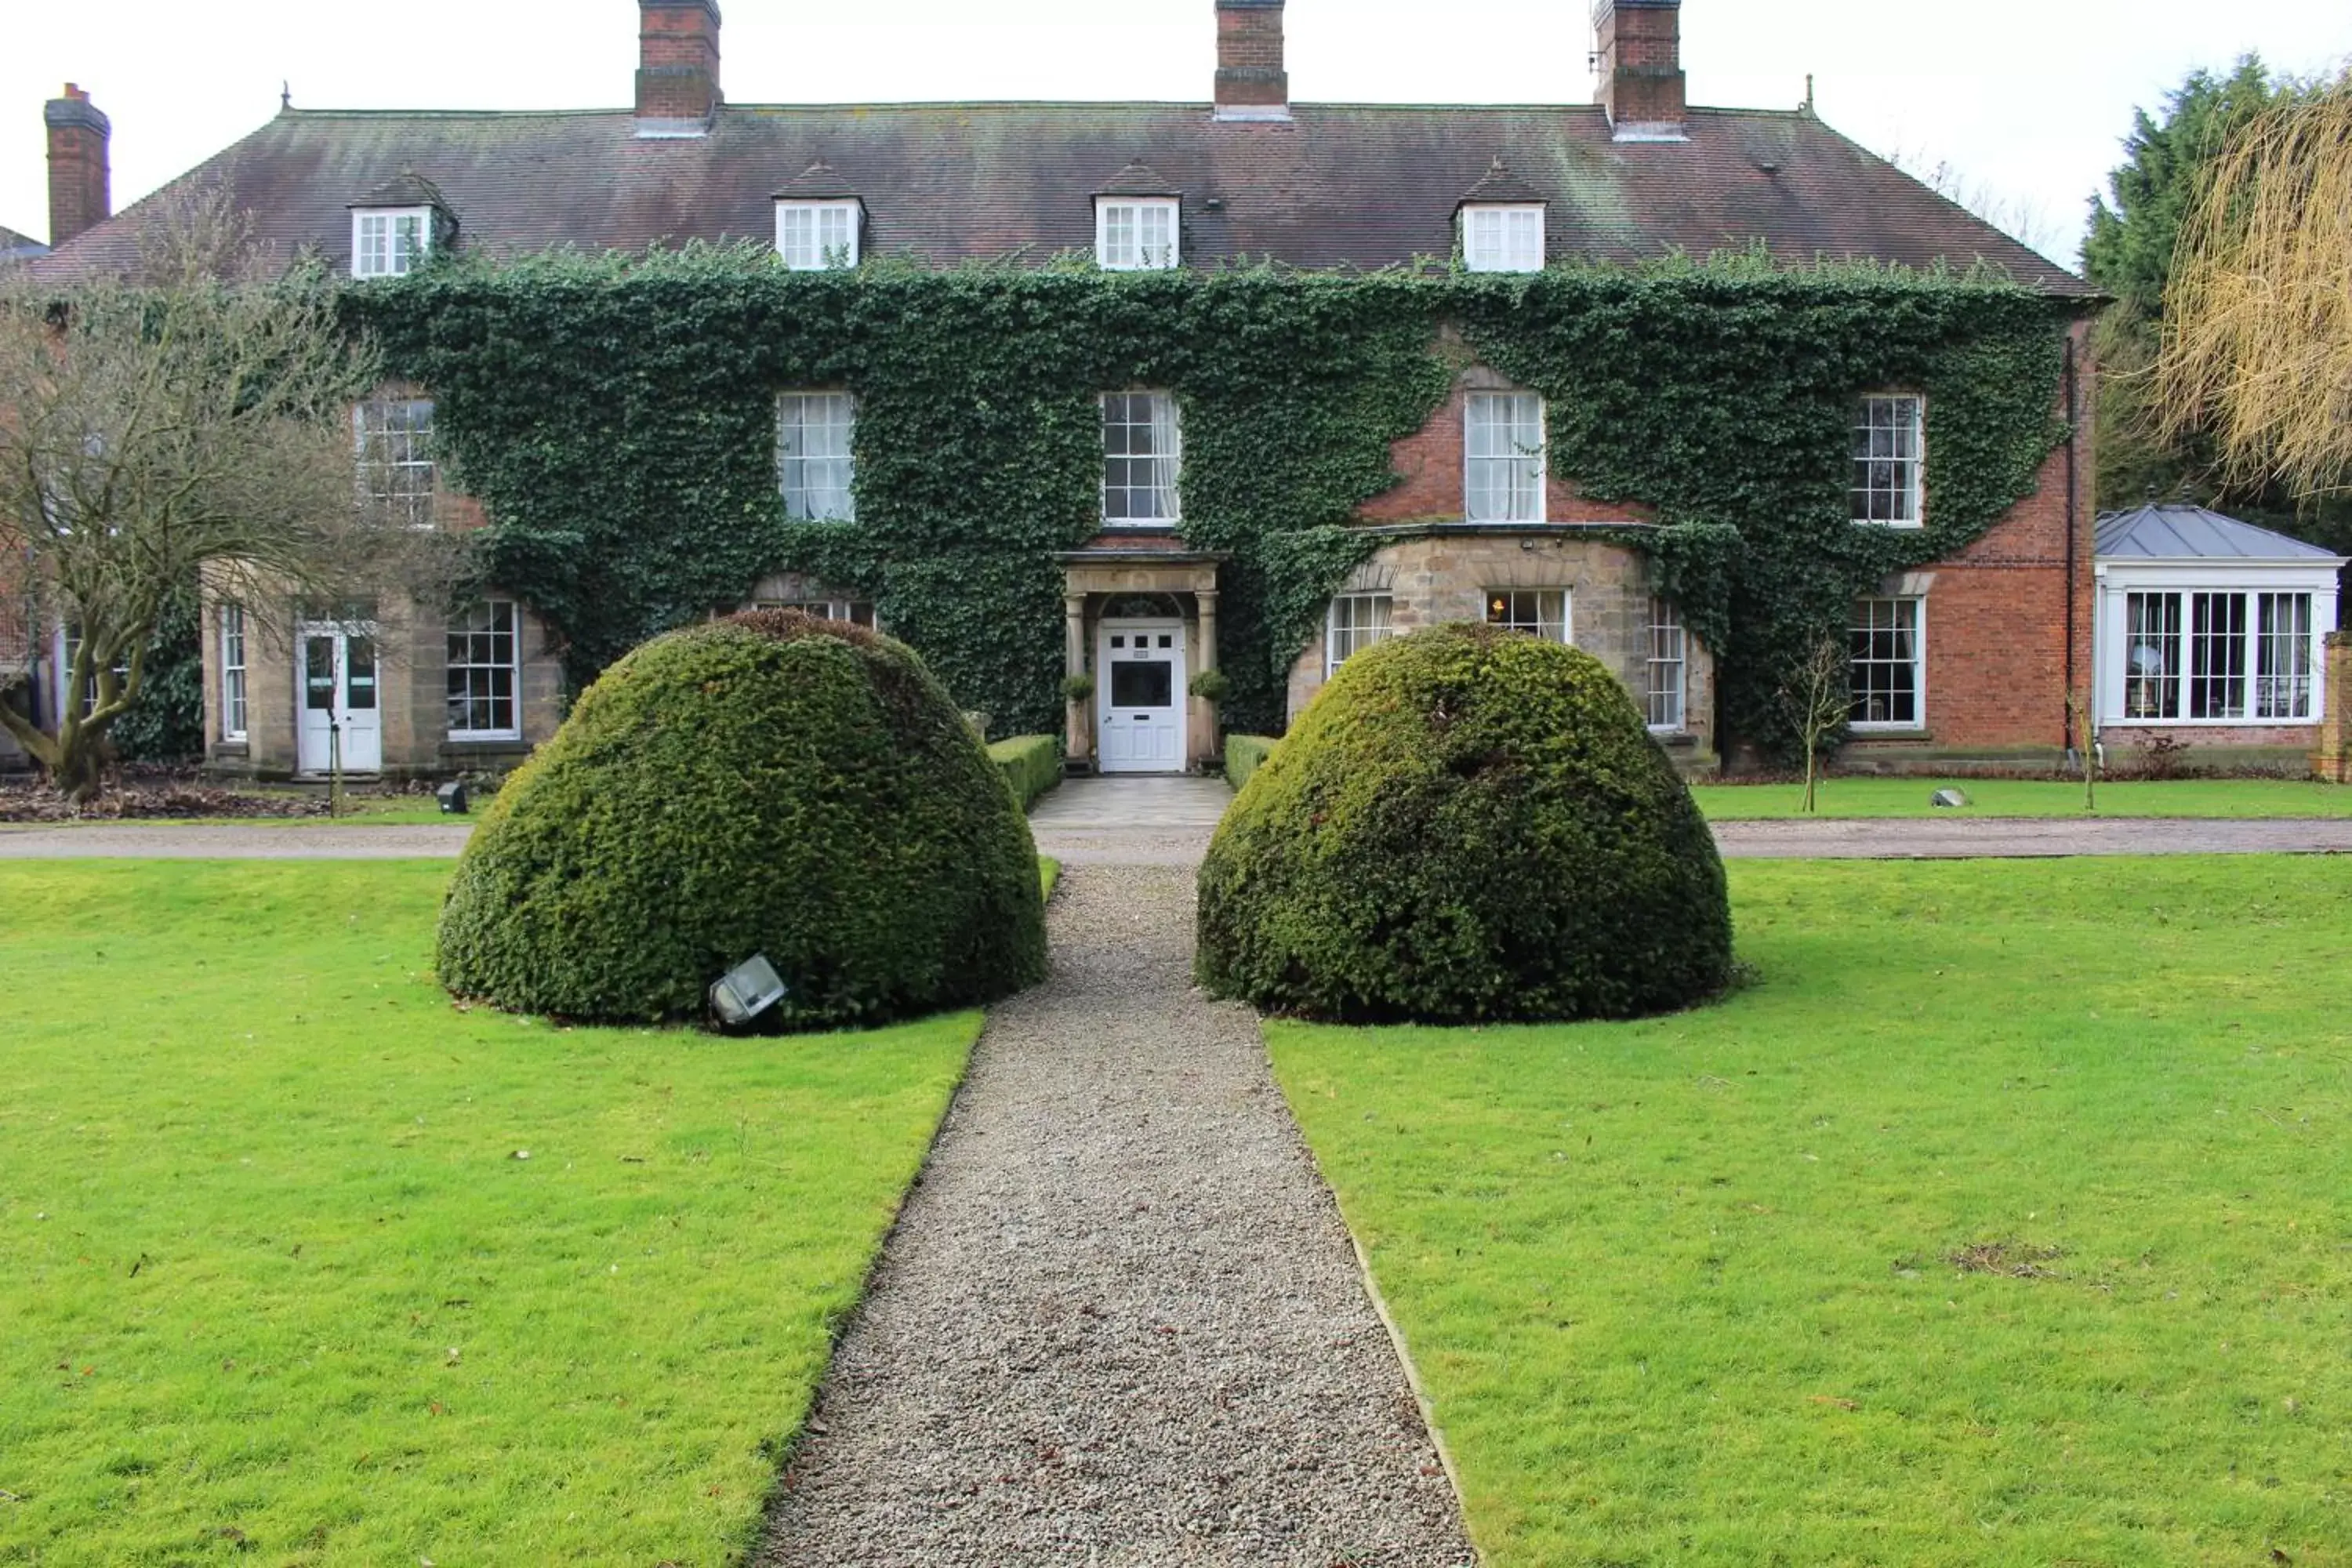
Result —
<path fill-rule="evenodd" d="M 2326 637 L 2336 630 L 2336 571 L 2333 567 L 2293 567 L 2277 571 L 2213 571 L 2211 567 L 2100 567 L 2100 616 L 2098 616 L 2098 665 L 2100 665 L 2100 724 L 2117 729 L 2317 729 L 2326 722 Z M 2136 599 L 2166 599 L 2171 602 L 2169 623 L 2176 628 L 2171 632 L 2173 665 L 2159 679 L 2164 693 L 2159 708 L 2173 708 L 2173 715 L 2161 712 L 2133 712 L 2133 698 L 2145 696 L 2133 691 L 2133 609 Z M 2211 616 L 2211 599 L 2241 599 L 2241 607 L 2232 611 L 2232 618 L 2241 616 L 2241 625 L 2230 642 L 2237 656 L 2237 712 L 2220 712 L 2206 717 L 2190 717 L 2197 705 L 2194 684 L 2199 682 L 2197 661 L 2199 646 L 2213 649 L 2211 639 L 2199 642 L 2199 611 Z M 2263 609 L 2265 599 L 2310 599 L 2310 623 L 2303 628 L 2298 642 L 2303 644 L 2300 670 L 2288 670 L 2286 675 L 2263 672 L 2263 661 L 2274 658 L 2281 639 L 2263 635 Z M 2206 675 L 2211 679 L 2211 672 Z M 2225 677 L 2232 679 L 2232 677 Z M 2293 715 L 2265 715 L 2263 703 L 2277 691 L 2277 682 L 2286 682 L 2288 691 L 2300 686 L 2305 696 L 2305 712 Z"/>

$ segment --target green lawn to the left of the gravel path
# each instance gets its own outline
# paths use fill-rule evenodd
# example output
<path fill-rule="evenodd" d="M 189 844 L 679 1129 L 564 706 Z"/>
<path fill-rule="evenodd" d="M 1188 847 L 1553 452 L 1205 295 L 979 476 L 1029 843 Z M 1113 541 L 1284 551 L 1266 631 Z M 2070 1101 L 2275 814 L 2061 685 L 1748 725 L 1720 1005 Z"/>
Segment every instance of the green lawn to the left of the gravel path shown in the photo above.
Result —
<path fill-rule="evenodd" d="M 978 1016 L 459 1013 L 447 877 L 0 865 L 0 1563 L 750 1542 Z"/>

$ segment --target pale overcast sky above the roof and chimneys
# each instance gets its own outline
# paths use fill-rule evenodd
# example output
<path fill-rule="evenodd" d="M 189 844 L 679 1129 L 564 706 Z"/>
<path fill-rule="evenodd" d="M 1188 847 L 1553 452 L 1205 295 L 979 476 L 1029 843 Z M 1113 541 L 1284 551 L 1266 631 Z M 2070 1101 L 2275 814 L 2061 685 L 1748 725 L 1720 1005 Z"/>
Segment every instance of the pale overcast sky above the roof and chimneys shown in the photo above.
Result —
<path fill-rule="evenodd" d="M 0 0 L 0 226 L 47 233 L 40 106 L 115 122 L 122 207 L 278 113 L 630 101 L 633 0 Z M 1209 96 L 1211 0 L 724 0 L 739 103 Z M 1820 115 L 2074 259 L 2136 103 L 2192 66 L 2352 54 L 2347 0 L 1686 0 L 1691 101 Z M 1583 103 L 1590 0 L 1291 0 L 1298 101 Z"/>

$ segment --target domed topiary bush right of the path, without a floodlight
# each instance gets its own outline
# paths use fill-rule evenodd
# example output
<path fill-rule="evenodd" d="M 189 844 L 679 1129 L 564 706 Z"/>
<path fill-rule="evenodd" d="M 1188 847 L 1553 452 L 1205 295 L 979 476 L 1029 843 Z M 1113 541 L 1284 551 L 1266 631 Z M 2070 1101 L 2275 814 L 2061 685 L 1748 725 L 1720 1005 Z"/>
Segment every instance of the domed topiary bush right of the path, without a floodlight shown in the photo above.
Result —
<path fill-rule="evenodd" d="M 1232 802 L 1200 980 L 1343 1023 L 1663 1013 L 1731 980 L 1724 865 L 1597 658 L 1432 628 L 1341 665 Z"/>

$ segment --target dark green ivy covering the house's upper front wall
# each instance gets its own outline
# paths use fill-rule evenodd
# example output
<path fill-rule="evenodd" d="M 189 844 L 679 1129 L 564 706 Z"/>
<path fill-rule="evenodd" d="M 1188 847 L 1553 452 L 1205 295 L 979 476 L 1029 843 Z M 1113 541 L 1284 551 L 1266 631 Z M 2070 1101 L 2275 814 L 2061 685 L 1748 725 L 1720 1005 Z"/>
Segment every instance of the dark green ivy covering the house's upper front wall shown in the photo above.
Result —
<path fill-rule="evenodd" d="M 1284 677 L 1376 541 L 1390 444 L 1463 355 L 1541 390 L 1552 463 L 1642 501 L 1684 611 L 1724 651 L 1736 733 L 1780 741 L 1780 670 L 1856 592 L 1952 555 L 2032 491 L 2065 308 L 1980 275 L 1759 259 L 1421 273 L 1105 275 L 1082 263 L 788 273 L 741 247 L 440 261 L 350 292 L 390 367 L 433 390 L 452 480 L 494 517 L 485 571 L 590 679 L 771 571 L 873 597 L 957 701 L 1058 729 L 1061 571 L 1101 517 L 1096 395 L 1183 416 L 1183 538 L 1221 574 L 1230 729 L 1279 729 Z M 1458 341 L 1451 341 L 1458 331 Z M 1931 524 L 1849 520 L 1865 388 L 1929 395 Z M 774 400 L 858 397 L 854 524 L 788 522 Z"/>

